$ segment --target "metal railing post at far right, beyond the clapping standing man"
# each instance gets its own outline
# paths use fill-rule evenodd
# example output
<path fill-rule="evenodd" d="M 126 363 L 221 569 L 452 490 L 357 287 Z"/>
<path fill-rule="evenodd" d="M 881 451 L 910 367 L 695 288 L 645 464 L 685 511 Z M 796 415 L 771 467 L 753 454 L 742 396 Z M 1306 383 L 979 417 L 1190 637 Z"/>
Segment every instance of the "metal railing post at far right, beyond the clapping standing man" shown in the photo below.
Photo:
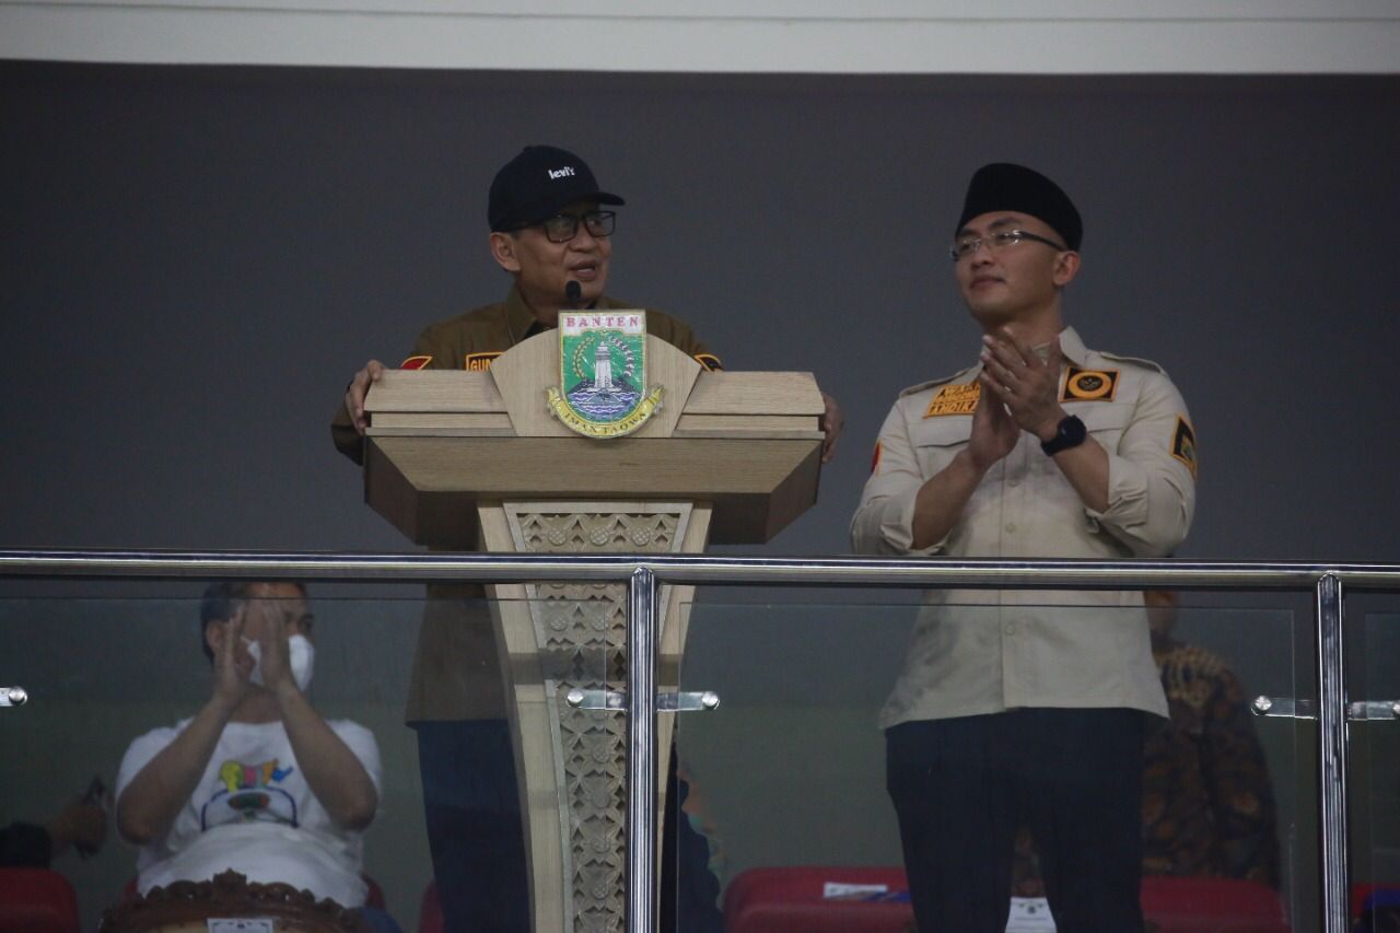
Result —
<path fill-rule="evenodd" d="M 1317 580 L 1317 790 L 1322 831 L 1322 929 L 1347 933 L 1347 688 L 1341 579 Z"/>

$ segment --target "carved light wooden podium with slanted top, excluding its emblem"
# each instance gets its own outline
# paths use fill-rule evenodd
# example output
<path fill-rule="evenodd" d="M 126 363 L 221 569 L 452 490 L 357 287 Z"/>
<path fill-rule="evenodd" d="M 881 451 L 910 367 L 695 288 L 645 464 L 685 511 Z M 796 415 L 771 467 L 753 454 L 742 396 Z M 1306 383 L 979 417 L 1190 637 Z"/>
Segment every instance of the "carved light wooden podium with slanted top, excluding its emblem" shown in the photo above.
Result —
<path fill-rule="evenodd" d="M 393 370 L 365 402 L 365 497 L 417 544 L 529 553 L 689 553 L 760 544 L 816 502 L 823 401 L 809 373 L 706 371 L 647 338 L 661 408 L 633 434 L 575 434 L 546 406 L 550 331 L 489 371 Z M 626 918 L 626 723 L 571 689 L 626 685 L 620 584 L 489 587 L 526 814 L 536 930 Z M 658 688 L 679 684 L 693 587 L 662 587 Z M 665 790 L 672 723 L 657 728 Z M 658 841 L 659 842 L 659 841 Z"/>

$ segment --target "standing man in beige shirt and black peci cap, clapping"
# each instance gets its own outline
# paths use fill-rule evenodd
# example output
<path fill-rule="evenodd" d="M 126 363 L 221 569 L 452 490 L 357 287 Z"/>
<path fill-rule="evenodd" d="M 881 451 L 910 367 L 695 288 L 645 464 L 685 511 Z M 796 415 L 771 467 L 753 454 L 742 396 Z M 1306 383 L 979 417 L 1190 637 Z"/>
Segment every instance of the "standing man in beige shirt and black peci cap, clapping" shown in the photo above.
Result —
<path fill-rule="evenodd" d="M 1044 175 L 973 175 L 951 256 L 980 359 L 895 402 L 857 551 L 1117 559 L 1186 537 L 1196 440 L 1180 394 L 1064 325 L 1081 238 Z M 1025 824 L 1061 933 L 1141 930 L 1142 734 L 1166 716 L 1141 593 L 927 600 L 881 713 L 918 927 L 1002 933 Z"/>

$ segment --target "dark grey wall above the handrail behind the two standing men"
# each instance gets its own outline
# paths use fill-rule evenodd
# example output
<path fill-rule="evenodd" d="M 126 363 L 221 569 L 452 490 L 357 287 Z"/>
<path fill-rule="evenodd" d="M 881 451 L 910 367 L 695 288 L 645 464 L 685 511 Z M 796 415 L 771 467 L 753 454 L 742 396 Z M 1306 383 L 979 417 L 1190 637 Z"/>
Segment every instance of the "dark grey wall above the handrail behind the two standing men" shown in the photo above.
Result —
<path fill-rule="evenodd" d="M 942 249 L 1016 160 L 1086 219 L 1067 314 L 1191 405 L 1203 558 L 1400 559 L 1400 78 L 676 77 L 0 64 L 0 546 L 395 549 L 326 422 L 497 300 L 497 165 L 624 193 L 612 291 L 848 415 L 774 552 L 843 552 L 895 392 L 965 366 Z"/>

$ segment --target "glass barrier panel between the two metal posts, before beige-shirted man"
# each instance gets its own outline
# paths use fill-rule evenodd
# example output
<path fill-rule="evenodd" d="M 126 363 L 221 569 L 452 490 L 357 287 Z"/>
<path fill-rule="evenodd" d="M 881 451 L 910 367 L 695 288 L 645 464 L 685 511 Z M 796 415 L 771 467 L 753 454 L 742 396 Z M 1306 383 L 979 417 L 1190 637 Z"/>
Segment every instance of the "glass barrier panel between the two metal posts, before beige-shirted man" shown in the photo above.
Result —
<path fill-rule="evenodd" d="M 676 897 L 662 899 L 662 929 L 913 929 L 897 799 L 911 857 L 930 866 L 920 877 L 939 860 L 960 878 L 990 864 L 1007 929 L 1053 930 L 1054 856 L 1039 849 L 1102 855 L 1093 834 L 1112 820 L 1093 814 L 1124 766 L 1141 782 L 1127 832 L 1141 832 L 1149 923 L 1211 930 L 1215 911 L 1252 930 L 1317 929 L 1316 723 L 1252 712 L 1261 695 L 1313 698 L 1312 621 L 1296 601 L 1166 594 L 1149 629 L 1142 608 L 1077 605 L 1098 598 L 1086 594 L 1001 595 L 707 590 L 690 608 L 680 695 L 720 705 L 675 716 L 683 817 L 668 828 Z M 1165 695 L 1170 717 L 991 714 L 1092 691 L 1119 707 L 1161 709 Z M 1085 780 L 1092 793 L 1075 792 Z"/>

